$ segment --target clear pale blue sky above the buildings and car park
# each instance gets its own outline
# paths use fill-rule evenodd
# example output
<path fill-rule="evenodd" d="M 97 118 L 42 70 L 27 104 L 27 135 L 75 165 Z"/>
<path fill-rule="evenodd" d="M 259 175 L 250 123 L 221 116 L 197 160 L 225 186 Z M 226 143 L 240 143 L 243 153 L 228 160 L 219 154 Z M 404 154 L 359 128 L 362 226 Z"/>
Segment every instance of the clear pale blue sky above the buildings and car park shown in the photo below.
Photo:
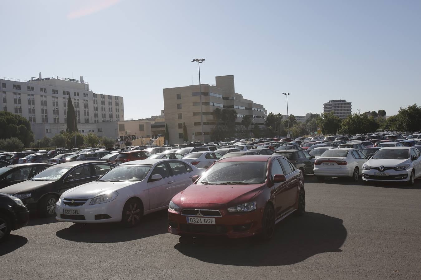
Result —
<path fill-rule="evenodd" d="M 13 0 L 0 8 L 0 76 L 85 77 L 159 115 L 163 88 L 234 75 L 236 92 L 286 115 L 421 105 L 421 1 Z"/>

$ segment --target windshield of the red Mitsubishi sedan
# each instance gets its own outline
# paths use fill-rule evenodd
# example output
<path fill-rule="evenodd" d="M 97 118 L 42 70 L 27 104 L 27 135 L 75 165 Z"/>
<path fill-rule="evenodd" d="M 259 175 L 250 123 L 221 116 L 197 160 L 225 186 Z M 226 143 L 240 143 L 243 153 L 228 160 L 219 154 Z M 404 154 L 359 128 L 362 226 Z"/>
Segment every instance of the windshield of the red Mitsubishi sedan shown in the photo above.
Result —
<path fill-rule="evenodd" d="M 266 161 L 217 162 L 200 177 L 202 185 L 248 185 L 266 181 Z"/>

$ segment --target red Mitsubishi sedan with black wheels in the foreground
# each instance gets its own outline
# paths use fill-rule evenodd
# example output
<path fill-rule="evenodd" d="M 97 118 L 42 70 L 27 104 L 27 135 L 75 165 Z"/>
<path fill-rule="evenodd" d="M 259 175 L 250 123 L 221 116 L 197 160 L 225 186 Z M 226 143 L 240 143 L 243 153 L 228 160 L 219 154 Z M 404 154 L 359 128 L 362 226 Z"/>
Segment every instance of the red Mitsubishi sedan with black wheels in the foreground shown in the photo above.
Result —
<path fill-rule="evenodd" d="M 304 176 L 279 154 L 228 157 L 197 177 L 171 200 L 168 232 L 268 240 L 277 222 L 305 212 Z"/>

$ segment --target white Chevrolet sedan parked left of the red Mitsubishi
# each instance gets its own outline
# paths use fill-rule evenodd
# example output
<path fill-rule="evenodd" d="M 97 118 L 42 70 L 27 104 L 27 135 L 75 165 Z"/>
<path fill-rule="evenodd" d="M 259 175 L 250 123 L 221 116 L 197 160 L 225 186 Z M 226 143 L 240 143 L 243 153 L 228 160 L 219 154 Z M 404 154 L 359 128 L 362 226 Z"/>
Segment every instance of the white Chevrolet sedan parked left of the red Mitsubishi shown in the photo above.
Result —
<path fill-rule="evenodd" d="M 168 208 L 171 198 L 205 170 L 182 160 L 146 159 L 125 162 L 110 171 L 65 191 L 56 204 L 56 219 L 135 226 L 143 215 Z"/>

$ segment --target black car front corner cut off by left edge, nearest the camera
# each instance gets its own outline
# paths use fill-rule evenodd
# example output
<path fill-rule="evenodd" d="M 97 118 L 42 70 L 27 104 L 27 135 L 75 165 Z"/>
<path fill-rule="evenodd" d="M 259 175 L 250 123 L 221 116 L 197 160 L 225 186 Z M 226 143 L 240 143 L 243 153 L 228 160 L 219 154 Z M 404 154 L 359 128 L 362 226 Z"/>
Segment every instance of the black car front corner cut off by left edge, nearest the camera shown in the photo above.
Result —
<path fill-rule="evenodd" d="M 14 196 L 0 193 L 0 242 L 11 230 L 17 230 L 29 221 L 29 211 L 22 201 Z"/>

